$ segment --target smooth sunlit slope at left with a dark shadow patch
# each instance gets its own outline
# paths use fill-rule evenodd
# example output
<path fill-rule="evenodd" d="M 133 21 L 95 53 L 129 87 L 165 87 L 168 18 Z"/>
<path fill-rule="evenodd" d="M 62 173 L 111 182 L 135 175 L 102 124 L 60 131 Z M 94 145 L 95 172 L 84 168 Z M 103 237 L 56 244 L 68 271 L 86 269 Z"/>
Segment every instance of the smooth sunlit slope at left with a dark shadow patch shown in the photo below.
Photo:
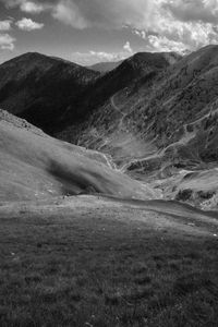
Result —
<path fill-rule="evenodd" d="M 87 154 L 86 154 L 87 153 Z M 99 161 L 100 155 L 0 120 L 0 199 L 78 193 L 153 198 L 154 193 Z"/>

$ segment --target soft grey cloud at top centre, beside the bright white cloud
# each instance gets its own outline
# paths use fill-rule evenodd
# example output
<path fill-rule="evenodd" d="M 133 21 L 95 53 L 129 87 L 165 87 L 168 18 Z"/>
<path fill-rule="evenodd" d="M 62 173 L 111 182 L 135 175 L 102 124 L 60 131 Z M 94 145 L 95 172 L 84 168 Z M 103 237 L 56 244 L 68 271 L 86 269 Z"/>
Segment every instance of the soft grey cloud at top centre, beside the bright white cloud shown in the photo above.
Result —
<path fill-rule="evenodd" d="M 142 27 L 148 20 L 152 0 L 61 0 L 53 7 L 53 17 L 75 28 Z"/>

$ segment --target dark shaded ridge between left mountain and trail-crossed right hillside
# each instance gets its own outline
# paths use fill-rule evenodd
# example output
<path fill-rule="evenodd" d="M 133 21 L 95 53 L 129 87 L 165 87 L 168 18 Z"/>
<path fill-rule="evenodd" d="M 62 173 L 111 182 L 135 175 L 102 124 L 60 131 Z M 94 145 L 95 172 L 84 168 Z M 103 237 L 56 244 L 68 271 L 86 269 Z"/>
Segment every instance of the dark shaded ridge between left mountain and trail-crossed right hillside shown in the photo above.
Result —
<path fill-rule="evenodd" d="M 82 122 L 87 121 L 89 114 L 95 114 L 118 92 L 124 90 L 125 93 L 131 85 L 136 85 L 137 81 L 142 78 L 153 78 L 175 60 L 178 60 L 178 57 L 174 53 L 148 52 L 136 53 L 124 60 L 116 70 L 98 77 L 78 98 L 78 107 L 87 113 L 86 117 L 83 117 Z M 64 119 L 66 126 L 73 122 L 71 111 L 68 112 Z"/>

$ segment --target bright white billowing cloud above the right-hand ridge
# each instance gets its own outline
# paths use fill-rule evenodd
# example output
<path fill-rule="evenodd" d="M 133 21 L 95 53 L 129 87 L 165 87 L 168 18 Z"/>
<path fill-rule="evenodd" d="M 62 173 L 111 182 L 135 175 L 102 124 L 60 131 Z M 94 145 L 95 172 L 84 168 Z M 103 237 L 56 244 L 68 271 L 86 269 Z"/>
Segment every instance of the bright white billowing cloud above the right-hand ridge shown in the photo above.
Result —
<path fill-rule="evenodd" d="M 217 0 L 158 0 L 148 27 L 135 28 L 133 34 L 144 39 L 150 51 L 183 53 L 217 44 L 218 31 L 214 23 L 217 5 Z"/>

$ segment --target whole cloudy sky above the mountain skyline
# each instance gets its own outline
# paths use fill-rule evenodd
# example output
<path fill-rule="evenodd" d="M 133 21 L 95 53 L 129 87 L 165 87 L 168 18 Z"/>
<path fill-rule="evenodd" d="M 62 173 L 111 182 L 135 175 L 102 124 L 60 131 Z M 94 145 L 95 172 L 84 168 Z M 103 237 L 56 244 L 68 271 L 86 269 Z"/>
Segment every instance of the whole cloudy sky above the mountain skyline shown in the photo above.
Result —
<path fill-rule="evenodd" d="M 0 0 L 0 63 L 29 51 L 82 65 L 218 44 L 218 0 Z"/>

